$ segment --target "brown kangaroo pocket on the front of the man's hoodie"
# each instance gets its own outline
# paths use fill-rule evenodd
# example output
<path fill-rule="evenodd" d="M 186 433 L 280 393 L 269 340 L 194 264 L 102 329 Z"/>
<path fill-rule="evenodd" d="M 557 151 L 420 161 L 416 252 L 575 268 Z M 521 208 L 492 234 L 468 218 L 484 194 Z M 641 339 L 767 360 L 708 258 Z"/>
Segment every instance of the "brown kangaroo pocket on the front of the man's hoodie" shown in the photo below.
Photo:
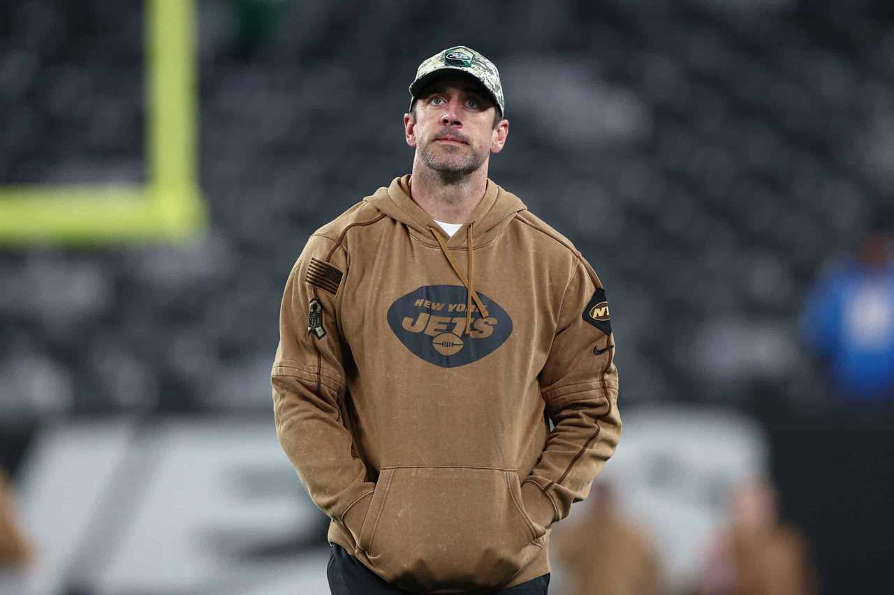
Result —
<path fill-rule="evenodd" d="M 500 585 L 543 548 L 515 471 L 383 467 L 359 547 L 386 581 L 409 591 Z"/>

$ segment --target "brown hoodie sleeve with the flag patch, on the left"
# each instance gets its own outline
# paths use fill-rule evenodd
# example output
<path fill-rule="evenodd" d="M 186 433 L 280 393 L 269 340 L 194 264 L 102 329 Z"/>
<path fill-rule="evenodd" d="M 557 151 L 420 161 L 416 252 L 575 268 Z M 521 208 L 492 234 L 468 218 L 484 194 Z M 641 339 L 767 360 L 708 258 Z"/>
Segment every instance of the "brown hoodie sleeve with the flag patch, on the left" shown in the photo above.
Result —
<path fill-rule="evenodd" d="M 310 499 L 357 541 L 375 483 L 342 420 L 344 358 L 337 321 L 348 258 L 313 235 L 292 267 L 280 310 L 273 384 L 276 436 Z"/>

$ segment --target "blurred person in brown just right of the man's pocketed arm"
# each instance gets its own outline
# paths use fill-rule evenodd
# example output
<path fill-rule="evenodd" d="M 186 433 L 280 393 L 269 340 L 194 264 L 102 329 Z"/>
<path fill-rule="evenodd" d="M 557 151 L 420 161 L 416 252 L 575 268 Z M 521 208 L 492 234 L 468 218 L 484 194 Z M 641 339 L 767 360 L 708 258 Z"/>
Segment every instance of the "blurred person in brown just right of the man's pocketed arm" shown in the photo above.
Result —
<path fill-rule="evenodd" d="M 597 481 L 586 516 L 552 533 L 556 559 L 571 574 L 568 595 L 658 595 L 658 555 L 648 537 L 618 509 L 614 490 Z"/>

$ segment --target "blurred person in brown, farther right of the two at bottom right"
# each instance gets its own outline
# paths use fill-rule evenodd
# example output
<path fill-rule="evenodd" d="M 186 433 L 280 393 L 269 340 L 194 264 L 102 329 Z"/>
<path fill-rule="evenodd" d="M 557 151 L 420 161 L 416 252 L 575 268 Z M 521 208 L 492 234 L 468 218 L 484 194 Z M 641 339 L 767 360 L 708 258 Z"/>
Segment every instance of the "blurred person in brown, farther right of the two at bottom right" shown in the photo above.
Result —
<path fill-rule="evenodd" d="M 733 490 L 730 523 L 709 546 L 697 595 L 814 595 L 805 537 L 780 524 L 776 490 L 763 478 Z"/>

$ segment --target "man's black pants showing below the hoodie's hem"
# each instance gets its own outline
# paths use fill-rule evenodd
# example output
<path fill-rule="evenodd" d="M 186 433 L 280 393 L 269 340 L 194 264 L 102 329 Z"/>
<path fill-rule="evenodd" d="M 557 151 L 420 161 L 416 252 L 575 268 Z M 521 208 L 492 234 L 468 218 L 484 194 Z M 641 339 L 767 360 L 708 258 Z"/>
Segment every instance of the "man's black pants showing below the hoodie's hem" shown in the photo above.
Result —
<path fill-rule="evenodd" d="M 393 595 L 406 594 L 409 591 L 398 589 L 381 576 L 373 573 L 337 543 L 332 544 L 329 566 L 326 566 L 329 578 L 329 589 L 333 595 Z M 544 574 L 536 579 L 522 582 L 503 591 L 494 591 L 493 595 L 546 595 L 550 584 L 550 575 Z"/>

